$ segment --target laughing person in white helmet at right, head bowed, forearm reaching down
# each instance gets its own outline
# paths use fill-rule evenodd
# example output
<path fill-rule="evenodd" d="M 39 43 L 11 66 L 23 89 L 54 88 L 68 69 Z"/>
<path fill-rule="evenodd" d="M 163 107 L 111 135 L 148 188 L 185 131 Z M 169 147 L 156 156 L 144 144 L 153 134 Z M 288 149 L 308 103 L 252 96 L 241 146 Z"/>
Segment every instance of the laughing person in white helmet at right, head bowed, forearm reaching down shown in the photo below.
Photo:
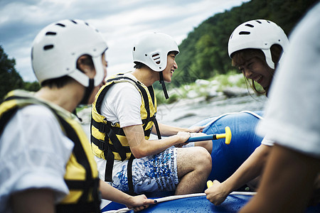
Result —
<path fill-rule="evenodd" d="M 252 89 L 267 95 L 275 69 L 281 65 L 280 60 L 286 53 L 288 45 L 287 35 L 276 23 L 261 19 L 252 20 L 235 28 L 229 38 L 228 53 L 233 65 L 239 68 L 247 81 L 251 82 Z M 255 82 L 263 87 L 263 92 L 257 91 Z M 257 187 L 258 177 L 265 168 L 273 143 L 268 136 L 265 136 L 262 144 L 230 178 L 224 182 L 213 180 L 213 185 L 205 191 L 208 200 L 218 205 L 230 192 L 245 184 L 252 188 Z"/>

